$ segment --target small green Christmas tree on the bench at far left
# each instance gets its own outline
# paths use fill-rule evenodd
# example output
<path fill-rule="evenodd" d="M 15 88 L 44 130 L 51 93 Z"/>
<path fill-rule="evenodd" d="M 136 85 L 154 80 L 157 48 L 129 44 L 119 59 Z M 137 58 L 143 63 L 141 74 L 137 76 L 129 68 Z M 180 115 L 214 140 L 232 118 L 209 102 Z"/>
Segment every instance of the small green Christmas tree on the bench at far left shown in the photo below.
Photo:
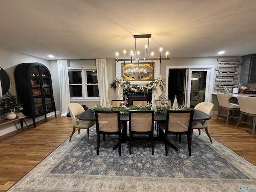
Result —
<path fill-rule="evenodd" d="M 8 92 L 0 101 L 0 115 L 5 116 L 10 112 L 19 113 L 22 109 L 23 108 L 18 100 L 18 97 L 12 95 L 10 92 Z"/>

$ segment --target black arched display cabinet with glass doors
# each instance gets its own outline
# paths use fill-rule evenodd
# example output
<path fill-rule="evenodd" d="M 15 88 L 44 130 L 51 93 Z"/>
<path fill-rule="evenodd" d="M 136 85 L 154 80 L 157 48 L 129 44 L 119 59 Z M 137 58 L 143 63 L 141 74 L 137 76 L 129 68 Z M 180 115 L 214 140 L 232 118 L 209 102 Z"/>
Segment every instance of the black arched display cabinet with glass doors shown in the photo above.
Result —
<path fill-rule="evenodd" d="M 14 70 L 17 96 L 22 103 L 22 113 L 32 118 L 36 127 L 35 118 L 56 109 L 52 92 L 50 71 L 41 63 L 18 64 Z"/>

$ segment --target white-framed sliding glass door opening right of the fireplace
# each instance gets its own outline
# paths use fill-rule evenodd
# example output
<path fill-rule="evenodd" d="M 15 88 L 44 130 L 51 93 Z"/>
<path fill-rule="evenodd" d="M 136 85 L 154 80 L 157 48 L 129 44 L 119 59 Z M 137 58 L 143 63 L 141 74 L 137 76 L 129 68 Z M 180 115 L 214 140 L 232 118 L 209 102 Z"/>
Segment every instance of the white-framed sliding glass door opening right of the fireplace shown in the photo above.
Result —
<path fill-rule="evenodd" d="M 166 67 L 166 93 L 172 103 L 177 96 L 178 106 L 194 108 L 200 102 L 211 102 L 214 66 L 190 67 Z"/>

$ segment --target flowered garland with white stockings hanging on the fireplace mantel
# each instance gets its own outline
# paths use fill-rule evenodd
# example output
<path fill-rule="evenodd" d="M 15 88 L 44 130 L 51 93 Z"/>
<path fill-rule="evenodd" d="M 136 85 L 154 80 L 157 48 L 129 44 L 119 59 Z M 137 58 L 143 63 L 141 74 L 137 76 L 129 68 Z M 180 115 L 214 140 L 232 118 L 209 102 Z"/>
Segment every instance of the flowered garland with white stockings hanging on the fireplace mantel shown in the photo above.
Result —
<path fill-rule="evenodd" d="M 162 94 L 161 90 L 164 89 L 163 78 L 161 75 L 154 78 L 152 82 L 146 85 L 131 84 L 130 81 L 122 77 L 114 78 L 110 87 L 113 87 L 115 90 L 118 88 L 119 97 L 122 95 L 122 90 L 127 90 L 129 93 L 149 93 L 153 88 L 156 88 L 158 93 L 157 96 L 159 97 Z"/>

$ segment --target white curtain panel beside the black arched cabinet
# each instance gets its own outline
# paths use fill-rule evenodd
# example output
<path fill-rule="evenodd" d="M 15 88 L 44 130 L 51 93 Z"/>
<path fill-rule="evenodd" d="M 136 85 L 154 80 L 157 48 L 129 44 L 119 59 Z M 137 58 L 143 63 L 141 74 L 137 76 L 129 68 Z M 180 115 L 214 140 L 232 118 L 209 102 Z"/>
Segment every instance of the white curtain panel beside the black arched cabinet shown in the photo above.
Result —
<path fill-rule="evenodd" d="M 68 113 L 68 104 L 70 103 L 68 60 L 57 60 L 57 66 L 60 83 L 60 116 L 66 116 Z"/>

